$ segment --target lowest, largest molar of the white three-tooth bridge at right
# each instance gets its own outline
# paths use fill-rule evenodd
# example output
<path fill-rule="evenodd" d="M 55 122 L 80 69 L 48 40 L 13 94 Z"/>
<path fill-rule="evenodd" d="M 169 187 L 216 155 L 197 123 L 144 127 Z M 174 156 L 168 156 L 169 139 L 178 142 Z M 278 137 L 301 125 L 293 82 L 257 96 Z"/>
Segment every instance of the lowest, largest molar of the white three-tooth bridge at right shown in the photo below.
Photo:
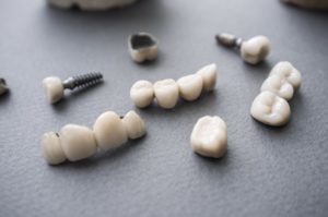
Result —
<path fill-rule="evenodd" d="M 262 92 L 254 99 L 250 114 L 267 125 L 280 126 L 290 120 L 291 108 L 284 98 L 271 92 Z"/>

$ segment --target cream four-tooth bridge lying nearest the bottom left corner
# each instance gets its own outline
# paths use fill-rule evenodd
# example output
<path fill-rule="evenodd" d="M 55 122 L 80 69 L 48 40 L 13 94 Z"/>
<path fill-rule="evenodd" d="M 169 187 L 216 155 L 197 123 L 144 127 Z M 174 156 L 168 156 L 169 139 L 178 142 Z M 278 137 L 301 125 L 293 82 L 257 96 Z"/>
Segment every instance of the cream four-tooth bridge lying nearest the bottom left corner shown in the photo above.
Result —
<path fill-rule="evenodd" d="M 145 124 L 138 113 L 129 111 L 120 118 L 113 111 L 102 113 L 93 130 L 67 124 L 59 133 L 48 132 L 42 136 L 42 153 L 50 165 L 65 160 L 77 161 L 94 155 L 97 149 L 116 148 L 130 140 L 145 134 Z"/>

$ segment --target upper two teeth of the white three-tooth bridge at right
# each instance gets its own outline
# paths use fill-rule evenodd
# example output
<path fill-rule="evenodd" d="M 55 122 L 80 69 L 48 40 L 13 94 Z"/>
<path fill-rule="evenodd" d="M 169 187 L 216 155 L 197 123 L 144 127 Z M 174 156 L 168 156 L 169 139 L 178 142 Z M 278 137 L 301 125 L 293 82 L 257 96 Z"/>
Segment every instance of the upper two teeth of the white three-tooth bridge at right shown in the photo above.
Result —
<path fill-rule="evenodd" d="M 290 62 L 279 62 L 263 82 L 261 92 L 269 91 L 290 100 L 301 86 L 301 73 Z"/>

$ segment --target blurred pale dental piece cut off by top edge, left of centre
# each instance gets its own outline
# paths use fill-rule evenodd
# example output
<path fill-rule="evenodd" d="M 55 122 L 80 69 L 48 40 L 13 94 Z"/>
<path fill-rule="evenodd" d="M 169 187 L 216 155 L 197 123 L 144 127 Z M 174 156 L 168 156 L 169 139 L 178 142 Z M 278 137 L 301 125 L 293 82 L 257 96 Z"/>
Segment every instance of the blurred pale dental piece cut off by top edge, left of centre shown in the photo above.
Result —
<path fill-rule="evenodd" d="M 48 0 L 55 7 L 71 9 L 78 7 L 84 11 L 101 11 L 112 8 L 122 8 L 133 3 L 136 0 Z"/>

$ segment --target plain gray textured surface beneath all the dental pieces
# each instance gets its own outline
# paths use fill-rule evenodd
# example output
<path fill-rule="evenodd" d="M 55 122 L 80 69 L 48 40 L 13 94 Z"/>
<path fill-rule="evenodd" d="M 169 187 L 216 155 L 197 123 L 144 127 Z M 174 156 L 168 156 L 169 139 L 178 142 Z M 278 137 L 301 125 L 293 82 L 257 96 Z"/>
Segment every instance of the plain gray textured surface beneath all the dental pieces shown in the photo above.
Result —
<path fill-rule="evenodd" d="M 0 72 L 11 93 L 0 98 L 0 216 L 327 216 L 328 15 L 277 0 L 141 0 L 103 13 L 60 11 L 44 1 L 0 3 Z M 127 36 L 145 31 L 161 40 L 160 59 L 138 65 Z M 214 34 L 272 41 L 268 61 L 250 67 Z M 291 61 L 303 86 L 292 118 L 273 129 L 254 121 L 249 107 L 270 69 Z M 213 94 L 173 110 L 133 107 L 140 79 L 178 79 L 215 62 Z M 50 106 L 45 76 L 89 71 L 105 83 L 67 93 Z M 103 111 L 136 109 L 148 135 L 75 164 L 48 166 L 39 138 L 72 122 L 92 126 Z M 218 114 L 229 125 L 224 158 L 191 152 L 198 118 Z"/>

